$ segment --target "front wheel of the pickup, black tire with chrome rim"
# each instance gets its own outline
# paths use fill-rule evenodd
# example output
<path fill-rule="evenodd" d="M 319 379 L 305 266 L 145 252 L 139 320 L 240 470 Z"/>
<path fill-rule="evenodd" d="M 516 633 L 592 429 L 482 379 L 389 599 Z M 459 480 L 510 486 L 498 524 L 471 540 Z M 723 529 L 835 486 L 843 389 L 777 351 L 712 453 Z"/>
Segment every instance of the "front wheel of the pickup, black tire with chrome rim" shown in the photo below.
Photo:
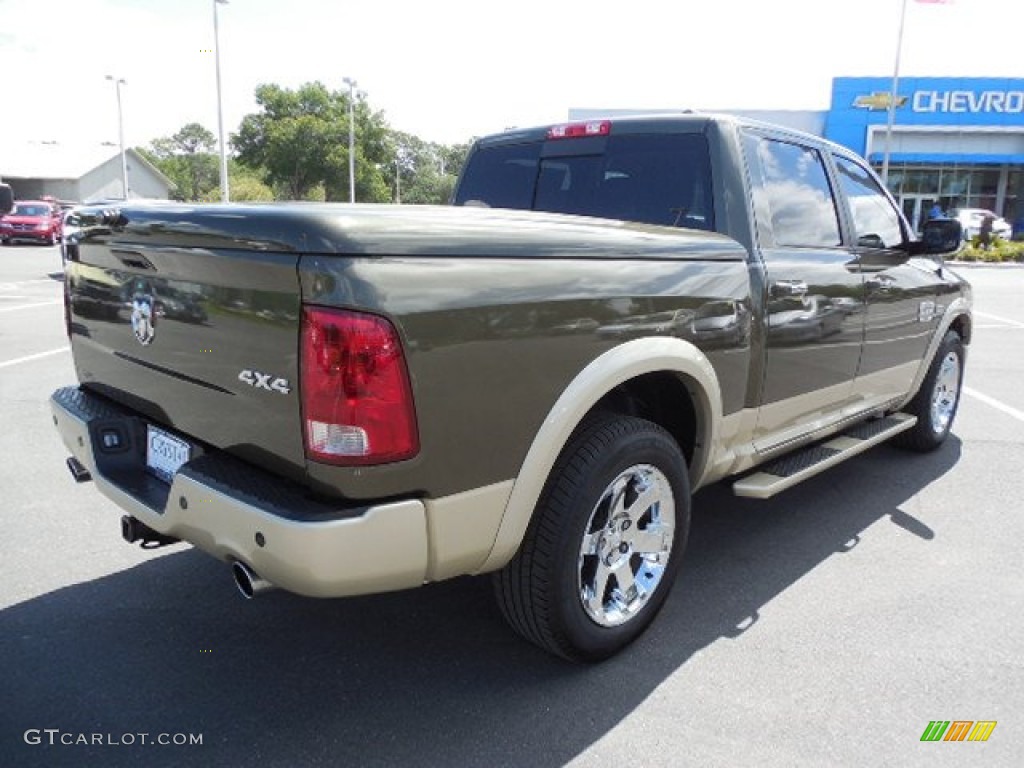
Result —
<path fill-rule="evenodd" d="M 916 416 L 918 423 L 896 435 L 894 445 L 928 453 L 945 442 L 959 407 L 965 359 L 963 339 L 949 331 L 935 352 L 921 389 L 903 409 L 903 413 Z"/>

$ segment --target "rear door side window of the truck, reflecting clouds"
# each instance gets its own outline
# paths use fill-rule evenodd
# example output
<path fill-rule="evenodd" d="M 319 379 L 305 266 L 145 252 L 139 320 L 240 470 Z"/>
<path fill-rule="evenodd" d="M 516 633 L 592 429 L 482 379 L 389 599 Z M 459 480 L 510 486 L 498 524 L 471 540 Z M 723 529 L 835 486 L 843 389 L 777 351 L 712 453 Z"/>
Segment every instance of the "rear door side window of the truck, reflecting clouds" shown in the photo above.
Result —
<path fill-rule="evenodd" d="M 839 215 L 821 156 L 787 141 L 755 138 L 775 244 L 797 248 L 841 244 Z"/>

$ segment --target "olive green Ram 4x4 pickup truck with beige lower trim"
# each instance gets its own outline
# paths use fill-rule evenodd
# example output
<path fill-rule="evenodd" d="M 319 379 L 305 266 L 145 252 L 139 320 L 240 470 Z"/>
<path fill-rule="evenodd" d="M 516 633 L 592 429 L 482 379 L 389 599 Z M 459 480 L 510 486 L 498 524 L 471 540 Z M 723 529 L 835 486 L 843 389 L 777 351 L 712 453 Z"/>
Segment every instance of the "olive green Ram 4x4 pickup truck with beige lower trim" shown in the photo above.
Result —
<path fill-rule="evenodd" d="M 916 237 L 840 146 L 698 115 L 516 130 L 454 203 L 75 213 L 52 413 L 127 541 L 189 542 L 250 597 L 490 572 L 517 632 L 595 660 L 665 602 L 694 489 L 949 433 L 958 224 Z"/>

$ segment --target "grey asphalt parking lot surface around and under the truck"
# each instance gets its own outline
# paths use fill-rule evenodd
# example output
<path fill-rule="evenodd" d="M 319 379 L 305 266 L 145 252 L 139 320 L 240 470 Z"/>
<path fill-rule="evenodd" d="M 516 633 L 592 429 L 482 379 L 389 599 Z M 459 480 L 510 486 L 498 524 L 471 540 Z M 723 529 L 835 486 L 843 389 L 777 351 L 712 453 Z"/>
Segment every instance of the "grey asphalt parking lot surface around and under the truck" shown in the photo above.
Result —
<path fill-rule="evenodd" d="M 1024 268 L 965 268 L 940 451 L 700 492 L 665 611 L 596 667 L 517 640 L 484 579 L 246 602 L 223 563 L 123 543 L 48 415 L 59 269 L 0 249 L 0 765 L 1024 765 Z M 922 742 L 934 720 L 997 725 Z"/>

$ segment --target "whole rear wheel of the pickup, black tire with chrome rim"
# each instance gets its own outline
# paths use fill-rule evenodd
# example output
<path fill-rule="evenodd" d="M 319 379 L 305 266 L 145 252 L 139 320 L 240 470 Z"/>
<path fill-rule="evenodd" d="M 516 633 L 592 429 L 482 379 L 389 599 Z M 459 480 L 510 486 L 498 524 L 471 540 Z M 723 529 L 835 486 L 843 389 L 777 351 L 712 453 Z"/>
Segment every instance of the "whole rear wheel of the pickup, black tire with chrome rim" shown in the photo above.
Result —
<path fill-rule="evenodd" d="M 502 613 L 552 653 L 607 658 L 662 608 L 689 522 L 686 461 L 672 436 L 643 419 L 592 418 L 555 463 L 519 552 L 495 574 Z"/>

